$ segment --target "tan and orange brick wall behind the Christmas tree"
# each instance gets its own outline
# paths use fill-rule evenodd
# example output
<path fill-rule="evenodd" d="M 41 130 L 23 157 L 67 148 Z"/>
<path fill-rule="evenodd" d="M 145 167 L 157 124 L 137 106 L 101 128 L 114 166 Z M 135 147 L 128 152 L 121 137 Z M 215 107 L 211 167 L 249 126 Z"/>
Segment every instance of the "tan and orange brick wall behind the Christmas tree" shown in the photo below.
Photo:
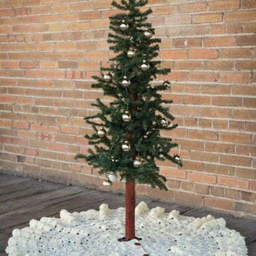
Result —
<path fill-rule="evenodd" d="M 78 150 L 96 97 L 91 76 L 112 56 L 110 0 L 0 2 L 0 169 L 102 188 Z M 256 1 L 151 0 L 160 58 L 173 71 L 171 112 L 184 167 L 160 163 L 169 191 L 138 186 L 164 201 L 256 216 Z M 159 78 L 162 80 L 162 78 Z M 114 190 L 123 190 L 114 183 Z"/>

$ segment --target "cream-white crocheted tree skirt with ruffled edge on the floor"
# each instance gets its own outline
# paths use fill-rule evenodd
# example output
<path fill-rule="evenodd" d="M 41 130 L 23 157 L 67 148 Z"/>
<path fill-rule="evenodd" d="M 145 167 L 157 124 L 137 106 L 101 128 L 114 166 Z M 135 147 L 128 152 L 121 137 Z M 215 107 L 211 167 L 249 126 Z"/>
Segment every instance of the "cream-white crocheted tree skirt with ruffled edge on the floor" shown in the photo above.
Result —
<path fill-rule="evenodd" d="M 142 240 L 119 242 L 124 237 L 125 208 L 112 210 L 101 204 L 99 211 L 62 210 L 60 219 L 33 219 L 30 227 L 14 229 L 6 252 L 15 256 L 247 255 L 244 237 L 228 229 L 222 218 L 186 217 L 160 207 L 150 210 L 144 202 L 135 214 L 135 234 Z"/>

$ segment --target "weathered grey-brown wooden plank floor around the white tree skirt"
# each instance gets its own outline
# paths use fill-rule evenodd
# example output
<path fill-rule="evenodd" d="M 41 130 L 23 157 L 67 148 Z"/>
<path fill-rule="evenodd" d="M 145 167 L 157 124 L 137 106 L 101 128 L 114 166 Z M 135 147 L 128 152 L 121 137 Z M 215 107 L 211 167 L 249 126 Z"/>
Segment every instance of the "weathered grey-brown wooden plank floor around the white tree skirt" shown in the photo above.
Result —
<path fill-rule="evenodd" d="M 166 212 L 176 209 L 186 216 L 203 217 L 211 214 L 224 217 L 229 229 L 235 229 L 245 236 L 249 255 L 256 255 L 256 221 L 150 199 L 137 198 L 136 203 L 142 200 L 149 208 L 161 206 Z M 107 203 L 112 209 L 124 207 L 124 195 L 0 173 L 0 255 L 7 255 L 4 250 L 12 230 L 29 226 L 30 219 L 59 217 L 61 209 L 71 212 L 98 210 L 102 203 Z"/>

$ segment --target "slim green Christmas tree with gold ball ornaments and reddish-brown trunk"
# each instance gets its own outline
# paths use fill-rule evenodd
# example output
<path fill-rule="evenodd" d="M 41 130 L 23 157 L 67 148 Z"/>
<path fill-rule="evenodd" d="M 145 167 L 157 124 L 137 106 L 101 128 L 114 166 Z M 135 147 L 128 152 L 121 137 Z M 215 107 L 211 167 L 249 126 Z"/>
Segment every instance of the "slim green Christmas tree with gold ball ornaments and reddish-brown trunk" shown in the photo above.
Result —
<path fill-rule="evenodd" d="M 152 9 L 141 11 L 147 0 L 112 1 L 112 6 L 122 12 L 109 17 L 108 35 L 115 57 L 109 66 L 101 67 L 102 76 L 93 88 L 103 89 L 104 95 L 113 101 L 108 105 L 100 99 L 92 106 L 99 111 L 94 116 L 85 117 L 93 129 L 93 135 L 85 135 L 89 145 L 88 155 L 78 153 L 76 158 L 85 159 L 89 165 L 99 168 L 99 174 L 109 174 L 115 180 L 119 173 L 126 182 L 126 237 L 135 238 L 135 183 L 149 184 L 152 188 L 167 190 L 166 178 L 159 174 L 156 160 L 170 160 L 181 166 L 178 155 L 170 155 L 177 144 L 160 135 L 161 130 L 177 127 L 171 121 L 168 104 L 160 91 L 170 89 L 170 83 L 153 83 L 160 75 L 167 75 L 169 68 L 160 68 L 160 39 L 153 37 L 155 30 L 147 22 Z M 111 186 L 107 178 L 104 186 Z"/>

